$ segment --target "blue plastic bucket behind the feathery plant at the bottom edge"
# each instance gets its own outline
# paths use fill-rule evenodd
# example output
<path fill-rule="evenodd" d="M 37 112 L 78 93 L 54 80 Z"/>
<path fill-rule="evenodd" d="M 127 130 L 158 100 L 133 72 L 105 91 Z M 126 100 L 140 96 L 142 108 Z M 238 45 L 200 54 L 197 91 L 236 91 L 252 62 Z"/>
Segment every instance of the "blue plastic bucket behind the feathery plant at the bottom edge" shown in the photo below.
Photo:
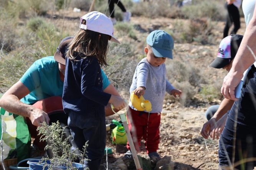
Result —
<path fill-rule="evenodd" d="M 48 170 L 48 167 L 45 167 L 45 169 L 43 169 L 43 165 L 44 163 L 38 164 L 38 162 L 40 162 L 40 159 L 34 159 L 34 160 L 29 160 L 27 162 L 27 164 L 29 165 L 29 170 Z M 47 164 L 50 164 L 50 161 L 46 161 Z M 84 169 L 84 165 L 82 164 L 78 164 L 78 163 L 73 163 L 73 167 L 76 167 L 77 170 L 83 170 Z M 66 167 L 63 166 L 57 166 L 55 168 L 56 170 L 66 170 Z"/>

